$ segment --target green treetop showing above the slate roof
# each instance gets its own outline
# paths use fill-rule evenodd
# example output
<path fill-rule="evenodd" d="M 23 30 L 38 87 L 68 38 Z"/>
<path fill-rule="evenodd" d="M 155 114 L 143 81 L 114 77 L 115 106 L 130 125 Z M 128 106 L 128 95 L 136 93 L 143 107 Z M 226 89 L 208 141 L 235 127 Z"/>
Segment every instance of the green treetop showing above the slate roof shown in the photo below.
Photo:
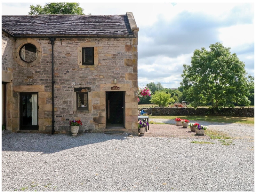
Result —
<path fill-rule="evenodd" d="M 39 4 L 36 6 L 30 5 L 29 15 L 44 15 L 44 14 L 75 14 L 84 15 L 83 8 L 79 3 L 46 3 L 43 7 Z"/>

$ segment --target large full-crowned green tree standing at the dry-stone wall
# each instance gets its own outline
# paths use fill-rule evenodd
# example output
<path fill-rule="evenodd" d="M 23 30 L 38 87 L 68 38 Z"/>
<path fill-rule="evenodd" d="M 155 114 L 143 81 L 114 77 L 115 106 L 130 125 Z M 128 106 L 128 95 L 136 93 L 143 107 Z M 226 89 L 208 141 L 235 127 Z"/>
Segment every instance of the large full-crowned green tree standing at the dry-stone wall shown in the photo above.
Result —
<path fill-rule="evenodd" d="M 219 106 L 250 104 L 245 65 L 229 50 L 221 43 L 211 44 L 210 51 L 196 49 L 191 65 L 183 65 L 180 84 L 192 106 L 211 104 L 217 113 Z"/>

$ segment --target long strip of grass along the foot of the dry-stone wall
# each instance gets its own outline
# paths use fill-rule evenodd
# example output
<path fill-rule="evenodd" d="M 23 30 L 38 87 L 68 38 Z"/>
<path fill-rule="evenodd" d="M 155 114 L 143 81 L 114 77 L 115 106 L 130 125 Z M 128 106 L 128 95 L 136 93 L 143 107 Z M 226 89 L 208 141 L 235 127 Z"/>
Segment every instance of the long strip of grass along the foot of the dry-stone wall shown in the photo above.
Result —
<path fill-rule="evenodd" d="M 228 117 L 228 116 L 149 116 L 150 119 L 169 119 L 174 120 L 176 117 L 180 119 L 193 120 L 195 122 L 208 121 L 219 123 L 241 123 L 254 125 L 254 117 Z M 199 122 L 200 124 L 200 122 Z"/>

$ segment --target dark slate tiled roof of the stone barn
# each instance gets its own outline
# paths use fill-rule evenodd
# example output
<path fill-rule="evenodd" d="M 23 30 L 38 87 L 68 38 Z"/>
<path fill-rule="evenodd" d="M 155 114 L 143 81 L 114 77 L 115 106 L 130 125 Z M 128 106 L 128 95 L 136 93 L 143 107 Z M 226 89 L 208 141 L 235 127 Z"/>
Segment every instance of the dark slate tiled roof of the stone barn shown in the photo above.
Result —
<path fill-rule="evenodd" d="M 2 15 L 16 36 L 133 36 L 127 15 Z"/>

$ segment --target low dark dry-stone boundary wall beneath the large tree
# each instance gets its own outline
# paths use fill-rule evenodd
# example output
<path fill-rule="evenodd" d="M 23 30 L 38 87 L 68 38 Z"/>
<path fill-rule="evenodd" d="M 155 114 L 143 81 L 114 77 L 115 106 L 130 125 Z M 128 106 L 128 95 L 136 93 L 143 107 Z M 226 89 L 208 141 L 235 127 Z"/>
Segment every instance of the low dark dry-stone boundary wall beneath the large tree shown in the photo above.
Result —
<path fill-rule="evenodd" d="M 143 109 L 146 112 L 147 109 Z M 234 117 L 254 117 L 254 108 L 222 108 L 218 114 L 214 114 L 211 108 L 152 108 L 152 115 L 221 115 Z"/>

